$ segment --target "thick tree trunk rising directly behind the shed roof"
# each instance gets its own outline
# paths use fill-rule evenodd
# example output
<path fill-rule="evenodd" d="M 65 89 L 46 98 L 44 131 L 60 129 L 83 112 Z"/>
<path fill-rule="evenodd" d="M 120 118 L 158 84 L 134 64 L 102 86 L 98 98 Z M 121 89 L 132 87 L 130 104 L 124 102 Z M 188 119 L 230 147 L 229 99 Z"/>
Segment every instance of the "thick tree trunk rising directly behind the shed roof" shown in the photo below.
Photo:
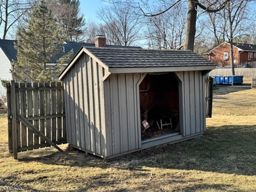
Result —
<path fill-rule="evenodd" d="M 197 3 L 193 0 L 188 0 L 188 17 L 187 17 L 187 28 L 185 34 L 184 49 L 194 50 L 194 41 L 196 35 L 196 11 Z"/>

